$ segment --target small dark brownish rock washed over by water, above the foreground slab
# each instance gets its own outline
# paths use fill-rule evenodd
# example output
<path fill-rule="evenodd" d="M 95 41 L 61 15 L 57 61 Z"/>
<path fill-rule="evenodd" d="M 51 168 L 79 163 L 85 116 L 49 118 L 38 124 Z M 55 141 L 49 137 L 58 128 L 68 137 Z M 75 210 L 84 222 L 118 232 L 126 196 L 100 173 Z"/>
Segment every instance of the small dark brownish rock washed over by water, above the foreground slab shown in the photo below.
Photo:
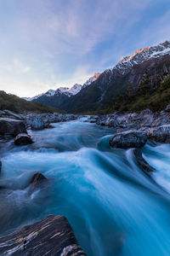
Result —
<path fill-rule="evenodd" d="M 35 189 L 41 188 L 44 184 L 48 183 L 47 177 L 43 176 L 42 173 L 36 172 L 29 182 L 29 192 L 32 193 Z"/>

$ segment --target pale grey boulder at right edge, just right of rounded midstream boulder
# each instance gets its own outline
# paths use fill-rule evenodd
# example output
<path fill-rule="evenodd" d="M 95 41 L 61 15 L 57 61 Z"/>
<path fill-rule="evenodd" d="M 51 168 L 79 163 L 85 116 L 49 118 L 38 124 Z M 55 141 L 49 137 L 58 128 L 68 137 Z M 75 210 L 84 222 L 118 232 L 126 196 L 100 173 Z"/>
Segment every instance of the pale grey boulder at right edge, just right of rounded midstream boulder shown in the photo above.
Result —
<path fill-rule="evenodd" d="M 170 125 L 161 125 L 146 131 L 150 140 L 158 143 L 170 143 Z"/>

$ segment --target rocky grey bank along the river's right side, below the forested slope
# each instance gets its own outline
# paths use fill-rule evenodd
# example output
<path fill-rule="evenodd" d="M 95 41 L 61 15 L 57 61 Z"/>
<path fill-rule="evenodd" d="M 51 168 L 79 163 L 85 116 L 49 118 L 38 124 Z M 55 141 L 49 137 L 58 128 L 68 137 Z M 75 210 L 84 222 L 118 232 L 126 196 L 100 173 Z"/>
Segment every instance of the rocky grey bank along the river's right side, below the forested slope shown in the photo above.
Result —
<path fill-rule="evenodd" d="M 158 143 L 170 143 L 170 105 L 161 112 L 145 109 L 141 113 L 111 113 L 91 117 L 97 125 L 112 127 L 116 133 L 143 132 L 148 139 Z"/>

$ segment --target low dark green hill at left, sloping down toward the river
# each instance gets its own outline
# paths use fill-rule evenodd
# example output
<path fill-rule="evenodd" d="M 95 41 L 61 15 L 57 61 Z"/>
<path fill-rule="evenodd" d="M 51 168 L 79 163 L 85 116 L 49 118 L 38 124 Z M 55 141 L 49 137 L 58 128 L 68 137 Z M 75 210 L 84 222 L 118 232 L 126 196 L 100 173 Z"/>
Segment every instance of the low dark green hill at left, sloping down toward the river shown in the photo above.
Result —
<path fill-rule="evenodd" d="M 18 96 L 7 94 L 5 91 L 0 90 L 0 110 L 8 109 L 16 113 L 36 112 L 36 113 L 63 113 L 57 108 L 47 107 L 37 102 L 27 102 Z"/>

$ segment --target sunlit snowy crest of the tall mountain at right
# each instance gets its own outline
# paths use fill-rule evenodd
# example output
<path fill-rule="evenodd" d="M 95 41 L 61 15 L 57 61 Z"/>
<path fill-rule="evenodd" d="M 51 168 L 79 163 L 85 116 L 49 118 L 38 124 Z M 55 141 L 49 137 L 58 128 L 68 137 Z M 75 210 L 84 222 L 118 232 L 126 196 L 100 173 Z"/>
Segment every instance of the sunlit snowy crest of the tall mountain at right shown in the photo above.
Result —
<path fill-rule="evenodd" d="M 118 61 L 116 67 L 113 68 L 113 71 L 125 74 L 128 73 L 134 65 L 139 65 L 144 61 L 160 58 L 167 54 L 170 55 L 170 41 L 166 41 L 156 46 L 139 49 L 133 55 L 122 57 L 121 60 Z"/>

